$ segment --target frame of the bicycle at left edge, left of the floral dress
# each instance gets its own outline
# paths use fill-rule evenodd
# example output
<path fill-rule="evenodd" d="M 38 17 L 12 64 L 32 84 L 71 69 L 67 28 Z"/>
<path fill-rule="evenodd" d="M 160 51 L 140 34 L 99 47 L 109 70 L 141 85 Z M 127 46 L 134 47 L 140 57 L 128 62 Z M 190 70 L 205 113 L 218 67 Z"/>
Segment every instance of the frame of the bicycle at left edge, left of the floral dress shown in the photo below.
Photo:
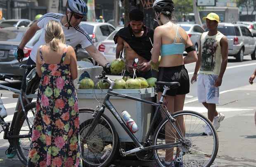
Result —
<path fill-rule="evenodd" d="M 24 112 L 24 115 L 26 115 L 25 106 L 24 106 L 24 103 L 23 103 L 23 97 L 24 97 L 24 99 L 26 100 L 27 103 L 30 103 L 30 101 L 28 100 L 28 96 L 26 96 L 26 94 L 24 94 L 22 89 L 18 90 L 18 89 L 14 89 L 12 87 L 7 87 L 5 85 L 0 85 L 0 87 L 3 88 L 3 89 L 7 89 L 10 92 L 14 92 L 14 93 L 19 94 L 19 98 L 18 98 L 18 101 L 17 101 L 17 105 L 16 105 L 16 108 L 15 108 L 15 113 L 13 115 L 12 123 L 11 123 L 10 128 L 9 128 L 9 123 L 5 124 L 5 125 L 1 125 L 2 129 L 4 130 L 3 138 L 4 139 L 21 139 L 21 138 L 31 137 L 31 134 L 28 134 L 28 135 L 12 135 L 11 133 L 9 133 L 9 132 L 12 132 L 12 130 L 14 128 L 14 123 L 15 123 L 14 120 L 16 120 L 17 113 L 19 112 L 20 106 L 21 106 L 22 112 Z M 5 121 L 3 120 L 3 122 L 5 122 Z M 28 124 L 28 128 L 29 128 L 30 132 L 32 132 L 32 127 L 29 124 L 27 116 L 26 116 L 26 122 Z"/>

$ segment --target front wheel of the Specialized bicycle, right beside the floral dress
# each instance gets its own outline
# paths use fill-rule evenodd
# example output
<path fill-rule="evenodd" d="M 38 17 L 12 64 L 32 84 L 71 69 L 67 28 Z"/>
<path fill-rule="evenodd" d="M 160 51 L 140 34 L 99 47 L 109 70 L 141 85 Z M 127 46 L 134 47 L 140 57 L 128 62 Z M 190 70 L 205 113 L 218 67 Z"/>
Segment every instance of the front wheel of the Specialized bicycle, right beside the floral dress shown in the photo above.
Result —
<path fill-rule="evenodd" d="M 101 120 L 100 120 L 100 122 L 98 122 L 98 124 L 96 126 L 101 126 L 102 128 L 109 129 L 109 132 L 111 131 L 110 133 L 112 134 L 112 144 L 107 142 L 106 139 L 104 141 L 105 137 L 102 136 L 103 133 L 102 134 L 94 133 L 95 130 L 93 131 L 93 133 L 90 136 L 93 135 L 96 137 L 91 138 L 91 141 L 89 141 L 89 142 L 87 142 L 87 140 L 86 141 L 83 140 L 83 134 L 85 134 L 85 133 L 83 133 L 83 131 L 85 130 L 85 132 L 86 132 L 86 127 L 90 127 L 90 123 L 93 120 L 92 114 L 94 113 L 94 111 L 95 111 L 94 109 L 90 109 L 90 108 L 80 108 L 79 109 L 79 118 L 84 118 L 84 117 L 82 117 L 82 113 L 87 114 L 86 119 L 80 124 L 80 132 L 79 132 L 80 139 L 81 139 L 80 140 L 81 157 L 83 159 L 83 166 L 85 166 L 85 167 L 107 167 L 112 162 L 114 155 L 116 154 L 116 150 L 118 148 L 118 143 L 119 143 L 119 138 L 118 138 L 118 134 L 117 134 L 116 129 L 114 128 L 114 125 L 111 122 L 111 120 L 109 120 L 109 118 L 106 115 L 102 114 L 102 116 L 100 118 Z M 102 141 L 102 145 L 101 145 L 102 150 L 98 150 L 95 148 L 97 146 L 96 142 L 100 143 L 100 141 Z M 92 143 L 92 144 L 90 144 L 90 143 Z M 93 144 L 95 145 L 95 147 L 93 147 Z M 100 145 L 100 144 L 98 144 L 98 145 Z M 105 149 L 107 146 L 109 146 L 109 144 L 111 145 L 110 153 L 108 152 L 107 149 Z M 87 156 L 85 155 L 86 150 L 88 151 Z M 99 152 L 99 153 L 97 155 L 95 155 L 95 157 L 90 157 L 92 154 L 89 155 L 90 154 L 89 150 L 90 150 L 90 152 L 93 153 L 93 155 L 95 155 L 93 150 L 96 152 Z M 103 153 L 103 151 L 105 151 L 105 153 Z M 98 156 L 99 154 L 100 154 L 100 156 Z M 101 156 L 101 154 L 102 154 L 102 156 Z M 104 160 L 104 157 L 106 157 L 107 154 L 108 154 L 108 156 Z M 98 157 L 101 157 L 101 160 L 99 160 Z M 92 161 L 95 161 L 95 159 L 97 159 L 98 162 L 92 162 Z"/>

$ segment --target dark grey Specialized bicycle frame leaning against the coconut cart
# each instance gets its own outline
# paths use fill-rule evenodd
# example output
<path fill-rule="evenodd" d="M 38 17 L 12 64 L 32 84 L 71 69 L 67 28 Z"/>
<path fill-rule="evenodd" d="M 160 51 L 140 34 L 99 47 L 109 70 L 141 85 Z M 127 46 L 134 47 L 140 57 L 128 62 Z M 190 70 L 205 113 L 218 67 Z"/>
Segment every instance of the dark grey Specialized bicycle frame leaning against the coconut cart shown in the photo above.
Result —
<path fill-rule="evenodd" d="M 107 80 L 109 80 L 107 78 Z M 109 81 L 111 82 L 111 81 Z M 117 92 L 114 92 L 112 87 L 114 86 L 114 84 L 111 84 L 111 86 L 109 87 L 109 90 L 104 98 L 104 102 L 103 102 L 103 105 L 101 106 L 101 108 L 96 112 L 96 115 L 95 115 L 95 118 L 93 119 L 92 121 L 92 125 L 90 127 L 90 129 L 88 130 L 88 132 L 85 134 L 85 139 L 87 136 L 89 136 L 92 131 L 94 130 L 94 128 L 96 127 L 97 123 L 99 122 L 100 120 L 100 117 L 101 115 L 104 113 L 104 110 L 105 108 L 107 107 L 107 109 L 112 113 L 112 115 L 116 118 L 116 120 L 119 122 L 119 124 L 123 127 L 123 129 L 126 131 L 126 133 L 130 136 L 130 138 L 133 140 L 133 142 L 135 143 L 136 147 L 137 148 L 134 148 L 130 151 L 126 151 L 126 155 L 129 155 L 129 154 L 132 154 L 132 153 L 136 153 L 136 152 L 139 152 L 139 151 L 147 151 L 147 150 L 152 150 L 152 149 L 163 149 L 163 148 L 166 148 L 166 146 L 172 148 L 172 147 L 175 147 L 175 146 L 180 146 L 181 143 L 183 143 L 182 139 L 183 139 L 183 135 L 182 133 L 178 130 L 178 128 L 176 127 L 175 125 L 175 118 L 172 117 L 172 115 L 168 112 L 168 111 L 165 111 L 164 108 L 162 108 L 162 105 L 163 105 L 163 99 L 164 99 L 164 96 L 167 92 L 168 87 L 164 87 L 164 92 L 161 96 L 161 99 L 159 100 L 159 103 L 154 103 L 152 101 L 147 101 L 147 100 L 143 100 L 143 99 L 139 99 L 139 98 L 136 98 L 136 97 L 133 97 L 133 96 L 128 96 L 126 94 L 119 94 Z M 152 131 L 152 128 L 153 128 L 153 125 L 154 125 L 154 122 L 156 121 L 156 115 L 157 113 L 159 112 L 159 109 L 161 108 L 161 110 L 164 112 L 164 115 L 166 116 L 166 118 L 168 118 L 168 120 L 170 121 L 171 125 L 174 127 L 175 131 L 178 133 L 178 136 L 180 137 L 180 142 L 177 142 L 177 143 L 168 143 L 168 144 L 162 144 L 162 145 L 155 145 L 155 146 L 147 146 L 147 147 L 144 147 L 139 141 L 138 139 L 136 138 L 136 136 L 130 132 L 130 130 L 128 129 L 128 127 L 126 126 L 126 124 L 124 123 L 125 121 L 123 120 L 123 118 L 120 117 L 119 113 L 116 111 L 116 109 L 114 108 L 114 106 L 112 105 L 112 103 L 109 101 L 109 98 L 111 96 L 118 96 L 118 97 L 122 97 L 122 98 L 125 98 L 125 99 L 130 99 L 130 100 L 135 100 L 135 101 L 140 101 L 142 103 L 147 103 L 149 105 L 159 105 L 156 109 L 156 112 L 154 113 L 154 116 L 153 116 L 153 119 L 152 119 L 152 122 L 150 123 L 149 125 L 149 130 L 147 132 L 147 135 L 146 135 L 146 138 L 145 138 L 145 141 L 143 141 L 143 143 L 145 143 L 148 139 L 149 139 L 149 134 L 150 132 Z"/>

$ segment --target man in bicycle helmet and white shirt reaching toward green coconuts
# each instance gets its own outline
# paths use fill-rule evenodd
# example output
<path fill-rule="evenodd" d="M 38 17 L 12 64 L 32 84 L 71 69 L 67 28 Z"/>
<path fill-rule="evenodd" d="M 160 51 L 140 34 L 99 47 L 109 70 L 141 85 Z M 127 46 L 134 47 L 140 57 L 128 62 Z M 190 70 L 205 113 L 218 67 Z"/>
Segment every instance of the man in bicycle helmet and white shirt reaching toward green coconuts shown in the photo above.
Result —
<path fill-rule="evenodd" d="M 71 45 L 76 47 L 76 45 L 81 44 L 83 48 L 92 56 L 98 64 L 103 66 L 104 71 L 110 73 L 110 64 L 106 58 L 96 49 L 92 44 L 92 40 L 89 34 L 81 27 L 79 24 L 88 12 L 86 3 L 83 0 L 68 0 L 66 3 L 66 14 L 59 13 L 47 13 L 43 15 L 38 21 L 36 21 L 29 29 L 26 31 L 21 43 L 17 48 L 17 60 L 22 61 L 24 59 L 24 47 L 27 42 L 35 35 L 36 31 L 43 29 L 38 42 L 33 46 L 31 54 L 27 60 L 27 65 L 35 65 L 36 54 L 38 48 L 45 44 L 45 27 L 50 20 L 58 21 L 62 24 L 62 29 L 66 38 L 66 45 Z M 26 75 L 23 76 L 23 82 L 26 83 L 26 76 L 32 69 L 26 70 Z M 23 84 L 23 89 L 26 89 L 26 84 Z M 7 157 L 13 158 L 14 151 L 12 146 L 7 149 Z M 13 155 L 13 156 L 8 156 Z"/>

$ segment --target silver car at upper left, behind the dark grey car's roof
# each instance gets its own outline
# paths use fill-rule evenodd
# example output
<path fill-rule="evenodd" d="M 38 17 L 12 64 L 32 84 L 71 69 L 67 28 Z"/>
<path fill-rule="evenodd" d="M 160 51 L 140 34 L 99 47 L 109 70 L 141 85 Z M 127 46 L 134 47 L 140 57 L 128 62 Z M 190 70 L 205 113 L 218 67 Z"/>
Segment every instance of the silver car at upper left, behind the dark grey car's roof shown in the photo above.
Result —
<path fill-rule="evenodd" d="M 8 19 L 0 23 L 0 28 L 27 27 L 31 23 L 28 19 Z"/>

